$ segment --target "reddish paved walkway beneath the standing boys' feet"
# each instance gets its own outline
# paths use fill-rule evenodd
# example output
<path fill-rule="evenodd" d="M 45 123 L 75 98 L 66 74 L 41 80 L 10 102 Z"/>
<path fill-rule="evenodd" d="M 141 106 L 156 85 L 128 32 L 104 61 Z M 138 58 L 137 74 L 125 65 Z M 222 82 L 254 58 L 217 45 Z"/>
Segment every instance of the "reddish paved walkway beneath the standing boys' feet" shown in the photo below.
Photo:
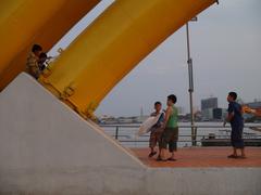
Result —
<path fill-rule="evenodd" d="M 149 167 L 210 168 L 210 167 L 260 167 L 261 147 L 246 147 L 247 159 L 231 159 L 231 147 L 188 147 L 178 148 L 177 161 L 157 161 L 157 155 L 148 158 L 148 148 L 133 148 L 137 157 Z"/>

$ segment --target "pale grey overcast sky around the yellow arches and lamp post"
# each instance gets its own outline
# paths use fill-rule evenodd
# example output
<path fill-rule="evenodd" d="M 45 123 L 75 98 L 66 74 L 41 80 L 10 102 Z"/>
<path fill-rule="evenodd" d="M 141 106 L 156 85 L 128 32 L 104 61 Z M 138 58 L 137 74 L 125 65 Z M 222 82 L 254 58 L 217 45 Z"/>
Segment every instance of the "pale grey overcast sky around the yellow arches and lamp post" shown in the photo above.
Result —
<path fill-rule="evenodd" d="M 50 52 L 67 44 L 113 0 L 102 0 Z M 226 107 L 228 91 L 245 102 L 261 99 L 261 0 L 220 0 L 189 24 L 194 60 L 195 104 L 217 96 Z M 133 116 L 151 112 L 154 101 L 165 103 L 174 93 L 177 105 L 188 112 L 186 31 L 181 28 L 136 68 L 103 100 L 97 115 Z"/>

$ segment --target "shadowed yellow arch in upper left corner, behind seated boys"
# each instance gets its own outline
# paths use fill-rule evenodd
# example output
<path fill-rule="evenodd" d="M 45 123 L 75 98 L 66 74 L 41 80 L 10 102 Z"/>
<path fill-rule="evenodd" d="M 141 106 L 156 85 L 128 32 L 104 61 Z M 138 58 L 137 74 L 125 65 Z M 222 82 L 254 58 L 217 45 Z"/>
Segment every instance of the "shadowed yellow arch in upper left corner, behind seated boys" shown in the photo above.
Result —
<path fill-rule="evenodd" d="M 39 43 L 45 51 L 49 51 L 99 2 L 100 0 L 0 1 L 0 91 L 25 69 L 25 61 L 34 43 Z M 40 18 L 38 15 L 41 15 Z M 21 31 L 21 26 L 24 31 Z"/>

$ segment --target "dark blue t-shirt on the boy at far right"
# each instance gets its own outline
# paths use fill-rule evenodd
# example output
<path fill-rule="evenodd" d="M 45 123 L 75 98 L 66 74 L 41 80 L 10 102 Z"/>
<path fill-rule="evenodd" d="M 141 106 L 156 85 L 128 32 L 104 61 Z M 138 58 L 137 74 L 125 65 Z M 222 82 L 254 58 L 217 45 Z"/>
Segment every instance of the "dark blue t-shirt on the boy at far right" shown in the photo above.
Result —
<path fill-rule="evenodd" d="M 244 118 L 241 114 L 241 105 L 237 102 L 231 102 L 228 104 L 228 114 L 233 114 L 233 118 L 231 120 L 232 127 L 243 127 L 244 126 Z"/>

